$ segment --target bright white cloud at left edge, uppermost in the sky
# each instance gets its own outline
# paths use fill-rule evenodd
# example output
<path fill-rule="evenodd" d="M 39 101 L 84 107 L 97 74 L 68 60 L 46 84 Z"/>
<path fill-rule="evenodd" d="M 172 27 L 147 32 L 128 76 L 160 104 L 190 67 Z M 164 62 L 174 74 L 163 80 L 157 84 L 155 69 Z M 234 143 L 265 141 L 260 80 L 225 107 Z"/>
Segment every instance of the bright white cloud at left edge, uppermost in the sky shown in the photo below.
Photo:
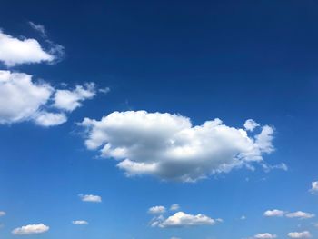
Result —
<path fill-rule="evenodd" d="M 35 39 L 20 40 L 6 35 L 0 30 L 0 62 L 6 66 L 52 62 L 55 55 L 51 55 L 41 47 Z"/>

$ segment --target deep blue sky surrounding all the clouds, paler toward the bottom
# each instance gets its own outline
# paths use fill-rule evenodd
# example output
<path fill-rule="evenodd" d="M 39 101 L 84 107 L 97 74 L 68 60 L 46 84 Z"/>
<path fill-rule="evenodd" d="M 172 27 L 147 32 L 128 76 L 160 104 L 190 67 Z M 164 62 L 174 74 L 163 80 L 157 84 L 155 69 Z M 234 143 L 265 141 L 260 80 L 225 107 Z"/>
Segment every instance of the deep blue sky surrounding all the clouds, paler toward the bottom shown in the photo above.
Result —
<path fill-rule="evenodd" d="M 263 212 L 318 214 L 318 196 L 309 192 L 318 180 L 317 12 L 314 1 L 2 0 L 5 34 L 45 44 L 32 21 L 65 47 L 58 63 L 9 70 L 51 85 L 94 82 L 110 92 L 85 101 L 65 124 L 0 125 L 0 210 L 6 213 L 0 237 L 16 238 L 14 228 L 43 223 L 47 233 L 25 238 L 228 239 L 267 232 L 288 238 L 310 231 L 315 239 L 318 219 Z M 263 158 L 288 170 L 256 165 L 195 183 L 126 177 L 115 160 L 86 149 L 76 123 L 128 110 L 180 114 L 194 125 L 214 118 L 236 128 L 250 118 L 272 125 L 275 151 Z M 103 202 L 85 203 L 78 194 L 100 195 Z M 224 223 L 151 227 L 148 208 L 172 204 Z"/>

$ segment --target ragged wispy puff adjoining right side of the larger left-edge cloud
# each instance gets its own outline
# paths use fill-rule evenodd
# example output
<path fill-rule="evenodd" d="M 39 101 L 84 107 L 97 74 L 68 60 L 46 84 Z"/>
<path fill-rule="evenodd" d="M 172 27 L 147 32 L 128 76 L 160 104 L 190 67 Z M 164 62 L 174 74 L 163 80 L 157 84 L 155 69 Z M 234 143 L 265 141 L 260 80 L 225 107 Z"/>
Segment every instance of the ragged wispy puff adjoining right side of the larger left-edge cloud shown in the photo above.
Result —
<path fill-rule="evenodd" d="M 74 111 L 82 105 L 86 99 L 92 99 L 96 95 L 94 83 L 76 85 L 74 90 L 57 90 L 54 96 L 54 106 L 65 111 Z"/>

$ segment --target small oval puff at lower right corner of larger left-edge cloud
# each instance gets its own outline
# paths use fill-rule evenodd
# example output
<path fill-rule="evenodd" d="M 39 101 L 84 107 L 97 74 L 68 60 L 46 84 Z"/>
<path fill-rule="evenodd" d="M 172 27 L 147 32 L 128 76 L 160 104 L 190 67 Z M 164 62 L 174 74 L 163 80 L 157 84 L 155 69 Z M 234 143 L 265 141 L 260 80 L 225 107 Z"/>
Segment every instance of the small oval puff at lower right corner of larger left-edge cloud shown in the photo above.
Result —
<path fill-rule="evenodd" d="M 48 127 L 64 124 L 67 121 L 67 117 L 63 113 L 49 113 L 42 111 L 35 115 L 34 121 L 35 124 Z"/>

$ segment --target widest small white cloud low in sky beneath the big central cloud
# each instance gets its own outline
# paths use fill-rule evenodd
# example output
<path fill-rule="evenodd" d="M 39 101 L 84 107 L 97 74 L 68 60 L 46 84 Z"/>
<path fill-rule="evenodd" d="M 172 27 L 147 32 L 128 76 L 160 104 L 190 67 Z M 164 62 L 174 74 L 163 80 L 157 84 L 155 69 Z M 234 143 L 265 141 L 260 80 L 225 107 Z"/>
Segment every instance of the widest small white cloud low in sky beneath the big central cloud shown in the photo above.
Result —
<path fill-rule="evenodd" d="M 217 222 L 219 222 L 218 220 Z M 153 227 L 187 227 L 187 226 L 198 226 L 198 225 L 214 225 L 216 220 L 204 215 L 204 214 L 184 214 L 184 212 L 178 212 L 174 215 L 164 219 L 163 216 L 155 218 L 152 222 Z"/>

